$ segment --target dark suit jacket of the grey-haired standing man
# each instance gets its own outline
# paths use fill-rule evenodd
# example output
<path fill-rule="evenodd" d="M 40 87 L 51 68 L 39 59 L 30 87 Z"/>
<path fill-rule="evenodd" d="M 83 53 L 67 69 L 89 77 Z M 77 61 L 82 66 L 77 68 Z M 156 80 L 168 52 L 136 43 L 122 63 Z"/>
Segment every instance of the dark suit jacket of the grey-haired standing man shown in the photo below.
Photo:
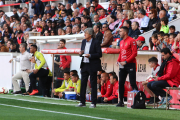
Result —
<path fill-rule="evenodd" d="M 85 46 L 86 46 L 86 39 L 84 39 L 82 41 L 81 50 L 85 50 Z M 94 38 L 92 39 L 92 42 L 91 42 L 89 54 L 90 54 L 90 58 L 89 58 L 90 70 L 92 72 L 97 72 L 97 71 L 102 70 L 101 60 L 100 60 L 100 58 L 102 57 L 101 46 L 98 43 L 98 41 Z M 83 56 L 81 55 L 81 57 L 83 57 Z M 81 65 L 80 65 L 82 72 L 84 70 L 83 69 L 83 65 L 84 65 L 83 60 L 84 60 L 84 57 L 82 58 Z"/>

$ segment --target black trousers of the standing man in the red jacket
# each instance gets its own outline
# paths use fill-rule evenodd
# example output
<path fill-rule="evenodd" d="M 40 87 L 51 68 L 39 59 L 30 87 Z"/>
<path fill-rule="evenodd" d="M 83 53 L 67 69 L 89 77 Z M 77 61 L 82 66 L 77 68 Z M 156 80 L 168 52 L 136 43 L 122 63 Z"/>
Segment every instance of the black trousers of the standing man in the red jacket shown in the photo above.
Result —
<path fill-rule="evenodd" d="M 120 68 L 119 71 L 119 98 L 120 101 L 123 102 L 124 98 L 124 84 L 126 81 L 126 77 L 129 74 L 129 81 L 131 84 L 132 89 L 138 90 L 136 85 L 136 64 L 135 63 L 128 63 L 124 66 L 124 68 Z"/>

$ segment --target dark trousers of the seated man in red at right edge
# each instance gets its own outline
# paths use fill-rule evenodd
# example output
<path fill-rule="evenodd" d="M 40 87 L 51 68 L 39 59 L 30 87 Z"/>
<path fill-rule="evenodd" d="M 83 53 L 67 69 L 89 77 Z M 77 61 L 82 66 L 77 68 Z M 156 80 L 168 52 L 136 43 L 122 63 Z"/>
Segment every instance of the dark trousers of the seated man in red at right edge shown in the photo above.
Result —
<path fill-rule="evenodd" d="M 170 87 L 166 80 L 152 81 L 147 84 L 147 87 L 156 95 L 166 97 L 165 87 Z"/>

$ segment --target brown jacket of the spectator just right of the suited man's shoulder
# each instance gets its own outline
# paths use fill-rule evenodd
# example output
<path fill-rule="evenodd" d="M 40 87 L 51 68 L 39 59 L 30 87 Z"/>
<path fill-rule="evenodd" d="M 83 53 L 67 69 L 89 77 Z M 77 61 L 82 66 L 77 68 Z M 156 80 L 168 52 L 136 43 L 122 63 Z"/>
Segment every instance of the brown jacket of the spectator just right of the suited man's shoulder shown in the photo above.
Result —
<path fill-rule="evenodd" d="M 109 47 L 112 45 L 113 41 L 113 35 L 110 30 L 107 30 L 104 32 L 104 40 L 103 43 L 101 44 L 101 47 Z"/>

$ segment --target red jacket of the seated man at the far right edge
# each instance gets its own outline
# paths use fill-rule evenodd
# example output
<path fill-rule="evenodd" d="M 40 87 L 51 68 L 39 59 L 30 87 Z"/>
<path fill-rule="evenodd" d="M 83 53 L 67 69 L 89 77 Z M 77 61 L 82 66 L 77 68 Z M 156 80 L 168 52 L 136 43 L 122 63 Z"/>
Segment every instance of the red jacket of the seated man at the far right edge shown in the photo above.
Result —
<path fill-rule="evenodd" d="M 166 80 L 171 87 L 180 85 L 180 63 L 178 59 L 172 58 L 166 63 L 163 75 L 158 77 L 158 81 L 160 80 Z"/>

